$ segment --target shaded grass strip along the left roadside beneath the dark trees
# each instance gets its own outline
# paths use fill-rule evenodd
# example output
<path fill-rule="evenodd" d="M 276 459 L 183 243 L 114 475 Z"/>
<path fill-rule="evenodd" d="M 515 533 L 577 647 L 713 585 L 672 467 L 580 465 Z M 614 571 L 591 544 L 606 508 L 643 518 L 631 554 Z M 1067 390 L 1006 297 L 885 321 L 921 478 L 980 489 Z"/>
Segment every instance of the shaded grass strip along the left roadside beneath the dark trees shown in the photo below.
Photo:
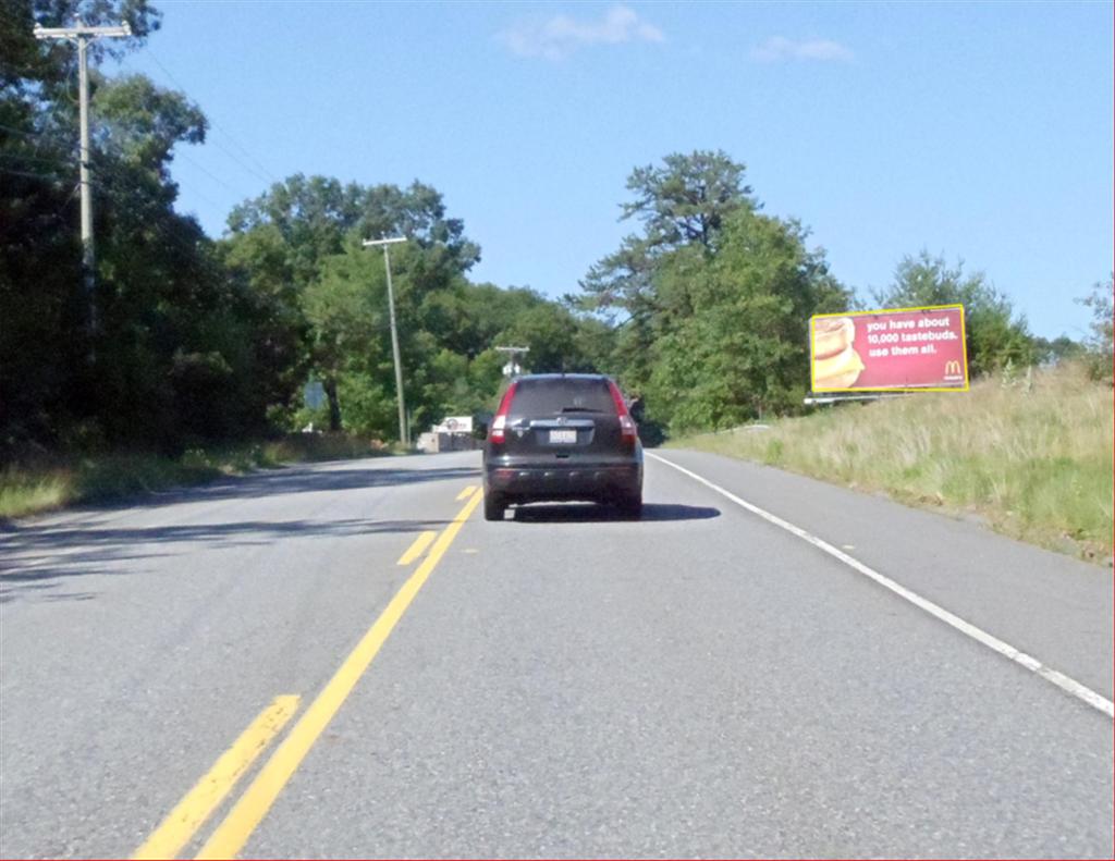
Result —
<path fill-rule="evenodd" d="M 0 517 L 21 517 L 139 491 L 204 484 L 222 475 L 304 461 L 390 454 L 367 441 L 328 434 L 291 434 L 245 445 L 193 448 L 181 457 L 108 454 L 39 455 L 0 470 Z"/>

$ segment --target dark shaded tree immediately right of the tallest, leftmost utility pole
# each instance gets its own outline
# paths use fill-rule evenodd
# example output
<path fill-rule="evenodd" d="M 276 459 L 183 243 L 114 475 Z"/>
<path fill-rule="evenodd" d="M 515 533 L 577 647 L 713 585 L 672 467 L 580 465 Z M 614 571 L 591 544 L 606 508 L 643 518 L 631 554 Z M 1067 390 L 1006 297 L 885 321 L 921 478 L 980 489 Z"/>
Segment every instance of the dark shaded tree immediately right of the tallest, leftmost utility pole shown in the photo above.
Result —
<path fill-rule="evenodd" d="M 204 115 L 138 76 L 97 83 L 101 425 L 109 439 L 172 451 L 260 433 L 268 403 L 259 393 L 275 387 L 261 360 L 271 297 L 230 272 L 173 207 L 174 147 L 204 141 Z"/>

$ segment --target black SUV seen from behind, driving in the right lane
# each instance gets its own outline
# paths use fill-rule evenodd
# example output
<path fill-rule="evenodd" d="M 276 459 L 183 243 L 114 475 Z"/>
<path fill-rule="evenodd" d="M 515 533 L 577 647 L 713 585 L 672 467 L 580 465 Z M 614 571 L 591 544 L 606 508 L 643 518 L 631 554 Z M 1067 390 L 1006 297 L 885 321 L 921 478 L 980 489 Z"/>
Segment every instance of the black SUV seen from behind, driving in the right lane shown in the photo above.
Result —
<path fill-rule="evenodd" d="M 484 519 L 508 505 L 589 501 L 642 513 L 642 444 L 614 380 L 536 374 L 513 380 L 484 444 Z"/>

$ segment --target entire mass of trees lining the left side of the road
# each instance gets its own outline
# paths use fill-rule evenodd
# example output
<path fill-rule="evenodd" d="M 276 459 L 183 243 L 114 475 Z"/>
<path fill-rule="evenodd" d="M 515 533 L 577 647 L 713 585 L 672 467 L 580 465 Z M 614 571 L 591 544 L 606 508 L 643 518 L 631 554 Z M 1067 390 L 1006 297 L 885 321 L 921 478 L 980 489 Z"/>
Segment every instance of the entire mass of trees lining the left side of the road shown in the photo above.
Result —
<path fill-rule="evenodd" d="M 236 206 L 217 242 L 174 209 L 176 147 L 207 122 L 184 94 L 91 70 L 98 326 L 86 326 L 72 87 L 74 51 L 33 38 L 36 22 L 158 26 L 145 0 L 36 0 L 0 17 L 0 433 L 11 453 L 142 445 L 285 429 L 319 378 L 338 429 L 397 433 L 382 252 L 403 235 L 395 281 L 407 403 L 421 427 L 487 405 L 502 340 L 525 341 L 544 369 L 586 369 L 602 323 L 530 290 L 473 284 L 479 248 L 440 193 L 295 174 Z M 42 345 L 52 345 L 49 350 Z M 90 356 L 95 357 L 90 361 Z"/>

